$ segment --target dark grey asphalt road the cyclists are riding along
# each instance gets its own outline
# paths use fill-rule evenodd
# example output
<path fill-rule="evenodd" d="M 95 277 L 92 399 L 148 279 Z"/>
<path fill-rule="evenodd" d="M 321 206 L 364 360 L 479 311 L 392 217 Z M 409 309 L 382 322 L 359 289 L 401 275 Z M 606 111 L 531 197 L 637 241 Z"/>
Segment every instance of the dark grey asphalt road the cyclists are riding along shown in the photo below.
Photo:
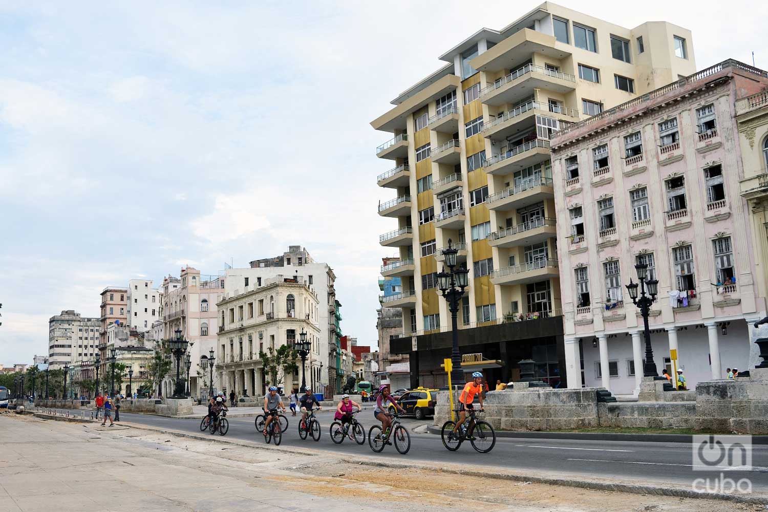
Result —
<path fill-rule="evenodd" d="M 232 412 L 236 412 L 233 410 Z M 411 434 L 411 449 L 408 454 L 400 455 L 394 446 L 387 446 L 381 454 L 375 454 L 366 444 L 358 445 L 347 438 L 343 444 L 334 444 L 329 437 L 329 426 L 333 415 L 329 411 L 320 411 L 317 418 L 322 427 L 319 441 L 307 438 L 302 441 L 297 430 L 299 416 L 286 415 L 289 426 L 283 433 L 283 447 L 308 446 L 313 449 L 333 451 L 336 454 L 365 453 L 392 460 L 426 460 L 432 463 L 466 463 L 488 467 L 492 473 L 494 467 L 530 469 L 543 471 L 551 476 L 581 475 L 599 479 L 601 477 L 631 479 L 637 481 L 670 482 L 690 485 L 697 478 L 714 478 L 722 471 L 726 477 L 738 481 L 748 478 L 754 492 L 768 492 L 768 446 L 756 445 L 752 449 L 753 471 L 729 471 L 727 467 L 716 467 L 715 471 L 694 471 L 693 451 L 690 444 L 649 443 L 627 441 L 570 441 L 561 439 L 526 439 L 497 438 L 495 448 L 488 454 L 476 452 L 465 442 L 458 451 L 448 451 L 443 447 L 439 435 L 415 434 L 413 428 L 431 423 L 427 421 L 403 420 Z M 121 413 L 121 419 L 137 424 L 154 427 L 172 428 L 200 434 L 200 418 L 165 418 L 154 415 Z M 227 439 L 264 442 L 263 435 L 257 433 L 253 417 L 227 418 L 230 429 Z M 368 429 L 374 424 L 373 412 L 363 410 L 358 420 Z M 210 435 L 210 434 L 209 434 Z M 219 438 L 218 434 L 214 434 Z M 213 437 L 213 436 L 212 436 Z"/>

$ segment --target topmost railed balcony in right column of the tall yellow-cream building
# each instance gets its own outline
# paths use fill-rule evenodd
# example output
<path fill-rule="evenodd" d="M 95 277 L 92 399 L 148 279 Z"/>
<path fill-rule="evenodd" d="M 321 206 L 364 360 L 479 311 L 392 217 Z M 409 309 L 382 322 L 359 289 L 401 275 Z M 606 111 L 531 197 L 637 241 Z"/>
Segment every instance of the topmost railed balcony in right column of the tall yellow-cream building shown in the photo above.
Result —
<path fill-rule="evenodd" d="M 522 68 L 482 88 L 480 101 L 493 106 L 515 104 L 530 96 L 534 89 L 567 94 L 576 89 L 576 77 L 570 73 L 542 68 L 536 64 L 525 64 Z"/>

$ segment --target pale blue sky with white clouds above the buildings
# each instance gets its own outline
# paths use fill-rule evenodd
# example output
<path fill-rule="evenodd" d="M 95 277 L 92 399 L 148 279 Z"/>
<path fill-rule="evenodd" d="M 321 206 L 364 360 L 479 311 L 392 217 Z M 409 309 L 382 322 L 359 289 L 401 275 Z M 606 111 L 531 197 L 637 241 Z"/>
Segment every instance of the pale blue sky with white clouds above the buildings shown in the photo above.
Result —
<path fill-rule="evenodd" d="M 766 2 L 559 3 L 690 28 L 699 69 L 752 51 L 768 69 Z M 536 5 L 0 3 L 0 364 L 47 355 L 51 315 L 98 316 L 104 286 L 289 245 L 333 267 L 343 332 L 376 345 L 393 253 L 378 235 L 395 225 L 376 213 L 392 136 L 369 122 L 444 51 Z"/>

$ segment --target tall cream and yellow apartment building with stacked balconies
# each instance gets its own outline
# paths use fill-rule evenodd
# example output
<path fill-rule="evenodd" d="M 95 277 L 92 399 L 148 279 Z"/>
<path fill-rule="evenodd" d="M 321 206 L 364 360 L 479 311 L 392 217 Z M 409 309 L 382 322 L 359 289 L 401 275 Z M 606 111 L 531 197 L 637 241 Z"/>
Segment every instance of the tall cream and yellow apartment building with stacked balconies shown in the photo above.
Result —
<path fill-rule="evenodd" d="M 399 250 L 412 385 L 445 385 L 451 315 L 437 289 L 449 240 L 470 282 L 458 312 L 462 352 L 488 380 L 533 358 L 538 377 L 564 375 L 558 243 L 549 137 L 562 127 L 695 71 L 690 31 L 663 21 L 624 28 L 551 2 L 501 30 L 483 28 L 440 56 L 445 64 L 400 94 L 372 127 L 393 189 L 380 236 Z M 568 222 L 568 220 L 564 220 Z M 561 220 L 563 222 L 563 220 Z M 415 337 L 415 339 L 412 339 Z"/>

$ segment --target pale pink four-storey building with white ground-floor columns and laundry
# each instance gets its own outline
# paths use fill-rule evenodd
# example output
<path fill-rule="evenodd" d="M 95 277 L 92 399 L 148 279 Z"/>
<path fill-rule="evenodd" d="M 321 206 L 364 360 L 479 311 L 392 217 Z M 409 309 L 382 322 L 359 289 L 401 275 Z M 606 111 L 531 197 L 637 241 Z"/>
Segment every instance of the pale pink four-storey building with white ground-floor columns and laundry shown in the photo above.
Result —
<path fill-rule="evenodd" d="M 650 339 L 689 388 L 757 360 L 755 284 L 735 102 L 766 72 L 725 61 L 558 132 L 552 171 L 569 387 L 637 394 L 643 319 L 625 285 L 658 279 Z M 677 359 L 671 355 L 677 352 Z"/>

